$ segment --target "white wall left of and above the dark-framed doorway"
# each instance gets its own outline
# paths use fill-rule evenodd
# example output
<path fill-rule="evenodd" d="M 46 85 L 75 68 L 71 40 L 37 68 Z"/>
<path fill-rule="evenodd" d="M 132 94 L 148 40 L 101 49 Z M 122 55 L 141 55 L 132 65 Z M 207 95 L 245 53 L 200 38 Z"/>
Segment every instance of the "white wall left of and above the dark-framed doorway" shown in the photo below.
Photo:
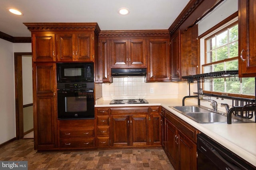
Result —
<path fill-rule="evenodd" d="M 31 51 L 31 43 L 0 39 L 0 144 L 16 137 L 14 52 Z"/>

